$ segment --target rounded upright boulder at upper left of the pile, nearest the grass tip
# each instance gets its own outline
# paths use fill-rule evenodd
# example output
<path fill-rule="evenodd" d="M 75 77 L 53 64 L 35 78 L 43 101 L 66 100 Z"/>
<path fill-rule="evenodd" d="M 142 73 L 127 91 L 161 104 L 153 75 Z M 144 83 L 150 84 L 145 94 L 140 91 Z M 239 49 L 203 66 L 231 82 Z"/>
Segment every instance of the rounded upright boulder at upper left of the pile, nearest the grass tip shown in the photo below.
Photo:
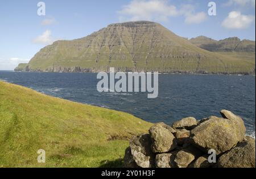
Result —
<path fill-rule="evenodd" d="M 164 153 L 174 150 L 177 142 L 169 129 L 163 123 L 156 123 L 149 130 L 152 139 L 152 151 L 154 153 Z"/>

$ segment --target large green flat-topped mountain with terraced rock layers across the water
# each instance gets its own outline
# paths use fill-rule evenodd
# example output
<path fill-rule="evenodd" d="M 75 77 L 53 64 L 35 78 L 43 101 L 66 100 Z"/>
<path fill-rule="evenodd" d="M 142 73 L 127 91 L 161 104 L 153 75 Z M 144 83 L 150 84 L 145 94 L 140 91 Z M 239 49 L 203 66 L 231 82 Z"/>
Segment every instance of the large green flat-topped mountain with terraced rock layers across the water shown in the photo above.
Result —
<path fill-rule="evenodd" d="M 209 52 L 154 22 L 110 24 L 76 40 L 53 42 L 16 71 L 255 73 L 255 61 Z"/>

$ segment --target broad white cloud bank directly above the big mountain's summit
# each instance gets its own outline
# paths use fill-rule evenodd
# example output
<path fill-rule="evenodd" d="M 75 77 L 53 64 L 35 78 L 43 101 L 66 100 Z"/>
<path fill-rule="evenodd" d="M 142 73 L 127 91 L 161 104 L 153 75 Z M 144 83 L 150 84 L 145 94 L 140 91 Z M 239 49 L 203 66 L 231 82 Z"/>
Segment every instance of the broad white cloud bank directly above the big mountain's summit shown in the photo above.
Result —
<path fill-rule="evenodd" d="M 178 9 L 164 0 L 133 0 L 129 5 L 123 6 L 118 14 L 120 22 L 137 20 L 167 22 L 171 17 L 184 16 L 185 23 L 199 24 L 207 19 L 204 12 L 196 12 L 192 5 L 183 5 Z"/>

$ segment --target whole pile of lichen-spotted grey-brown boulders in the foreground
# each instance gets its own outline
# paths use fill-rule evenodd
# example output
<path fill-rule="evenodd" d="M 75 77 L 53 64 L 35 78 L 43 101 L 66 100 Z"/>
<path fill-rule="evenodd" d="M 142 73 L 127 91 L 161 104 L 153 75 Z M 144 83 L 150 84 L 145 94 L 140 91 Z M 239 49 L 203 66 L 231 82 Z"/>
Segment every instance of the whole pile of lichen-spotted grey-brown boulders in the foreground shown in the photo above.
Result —
<path fill-rule="evenodd" d="M 131 140 L 125 167 L 255 167 L 255 139 L 245 136 L 242 118 L 228 110 L 220 113 L 223 118 L 189 117 L 172 127 L 156 123 L 149 134 Z"/>

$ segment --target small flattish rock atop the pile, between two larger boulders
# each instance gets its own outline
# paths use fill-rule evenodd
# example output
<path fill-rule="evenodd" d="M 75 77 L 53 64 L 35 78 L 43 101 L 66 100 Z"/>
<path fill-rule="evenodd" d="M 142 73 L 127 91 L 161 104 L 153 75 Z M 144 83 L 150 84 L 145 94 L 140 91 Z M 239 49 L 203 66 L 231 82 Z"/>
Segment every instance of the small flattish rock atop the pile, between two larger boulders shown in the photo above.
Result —
<path fill-rule="evenodd" d="M 196 126 L 197 126 L 197 121 L 193 117 L 187 117 L 187 118 L 184 118 L 184 119 L 182 119 L 180 121 L 174 122 L 172 124 L 172 127 L 174 129 L 187 129 L 187 130 L 191 130 L 191 129 L 193 129 Z"/>

